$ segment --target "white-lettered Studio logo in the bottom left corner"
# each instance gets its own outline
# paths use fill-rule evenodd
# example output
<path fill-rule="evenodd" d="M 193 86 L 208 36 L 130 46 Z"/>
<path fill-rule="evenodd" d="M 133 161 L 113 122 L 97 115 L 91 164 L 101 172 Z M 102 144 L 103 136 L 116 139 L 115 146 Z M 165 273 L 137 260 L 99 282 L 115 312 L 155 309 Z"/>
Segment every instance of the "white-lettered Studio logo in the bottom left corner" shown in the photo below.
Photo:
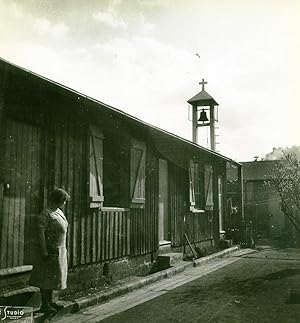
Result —
<path fill-rule="evenodd" d="M 0 306 L 0 322 L 33 322 L 33 308 L 24 306 Z"/>

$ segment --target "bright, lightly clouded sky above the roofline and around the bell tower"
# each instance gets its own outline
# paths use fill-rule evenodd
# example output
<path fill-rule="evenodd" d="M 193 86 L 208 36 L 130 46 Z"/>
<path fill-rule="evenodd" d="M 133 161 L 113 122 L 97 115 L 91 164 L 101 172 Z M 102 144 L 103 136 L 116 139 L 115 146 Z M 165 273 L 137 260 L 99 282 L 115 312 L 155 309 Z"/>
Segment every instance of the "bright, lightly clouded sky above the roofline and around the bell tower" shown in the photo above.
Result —
<path fill-rule="evenodd" d="M 0 0 L 0 57 L 236 161 L 300 144 L 298 0 Z M 208 127 L 199 144 L 208 147 Z"/>

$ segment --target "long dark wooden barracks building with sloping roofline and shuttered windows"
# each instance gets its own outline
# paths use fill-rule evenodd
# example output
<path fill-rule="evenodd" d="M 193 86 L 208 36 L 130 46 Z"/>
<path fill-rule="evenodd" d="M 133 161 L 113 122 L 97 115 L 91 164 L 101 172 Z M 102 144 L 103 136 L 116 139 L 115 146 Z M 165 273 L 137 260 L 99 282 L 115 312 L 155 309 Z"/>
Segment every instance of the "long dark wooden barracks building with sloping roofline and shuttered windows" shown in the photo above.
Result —
<path fill-rule="evenodd" d="M 71 195 L 74 288 L 147 274 L 163 249 L 189 251 L 185 234 L 209 249 L 226 231 L 226 166 L 240 184 L 241 166 L 217 152 L 2 59 L 0 126 L 2 291 L 26 288 L 34 216 L 54 187 Z"/>

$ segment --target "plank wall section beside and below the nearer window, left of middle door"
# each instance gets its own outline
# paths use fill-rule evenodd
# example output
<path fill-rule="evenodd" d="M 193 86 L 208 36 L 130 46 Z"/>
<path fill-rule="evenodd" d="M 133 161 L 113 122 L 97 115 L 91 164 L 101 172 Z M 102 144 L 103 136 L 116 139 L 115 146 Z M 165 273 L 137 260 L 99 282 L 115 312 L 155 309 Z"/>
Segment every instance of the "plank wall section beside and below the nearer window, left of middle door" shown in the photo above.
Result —
<path fill-rule="evenodd" d="M 147 148 L 145 208 L 128 211 L 89 210 L 87 199 L 87 129 L 74 120 L 54 122 L 48 130 L 48 176 L 54 171 L 53 185 L 65 188 L 71 200 L 65 208 L 69 221 L 69 266 L 107 261 L 127 255 L 142 255 L 154 251 L 157 233 L 157 163 L 151 148 Z M 51 144 L 52 143 L 52 144 Z M 51 147 L 52 145 L 52 147 Z M 53 158 L 52 158 L 53 159 Z M 45 185 L 47 186 L 47 185 Z M 44 195 L 46 196 L 48 192 Z"/>

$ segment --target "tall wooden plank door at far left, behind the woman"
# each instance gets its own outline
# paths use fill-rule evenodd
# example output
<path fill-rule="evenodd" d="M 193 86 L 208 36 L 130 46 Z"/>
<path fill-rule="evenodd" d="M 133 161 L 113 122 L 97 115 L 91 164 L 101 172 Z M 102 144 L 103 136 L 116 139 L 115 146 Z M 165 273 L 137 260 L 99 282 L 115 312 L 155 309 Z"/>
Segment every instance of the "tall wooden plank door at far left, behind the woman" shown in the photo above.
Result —
<path fill-rule="evenodd" d="M 40 211 L 40 128 L 5 122 L 0 209 L 0 268 L 31 263 L 33 216 Z"/>

